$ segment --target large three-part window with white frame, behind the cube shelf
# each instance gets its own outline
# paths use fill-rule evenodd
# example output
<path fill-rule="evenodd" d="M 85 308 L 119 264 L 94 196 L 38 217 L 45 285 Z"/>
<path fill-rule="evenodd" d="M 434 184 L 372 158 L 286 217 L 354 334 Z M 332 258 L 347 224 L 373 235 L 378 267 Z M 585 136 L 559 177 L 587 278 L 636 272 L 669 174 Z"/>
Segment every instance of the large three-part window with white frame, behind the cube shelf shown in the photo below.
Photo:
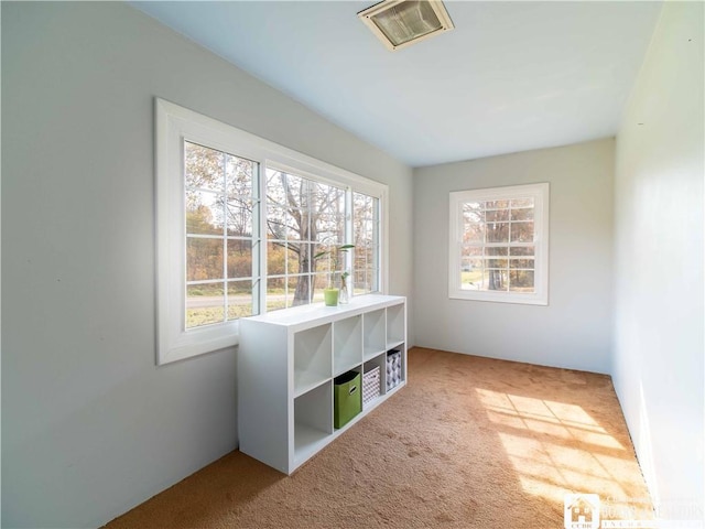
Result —
<path fill-rule="evenodd" d="M 383 292 L 387 186 L 156 99 L 158 363 L 238 343 L 238 320 Z M 355 245 L 333 266 L 336 246 Z M 334 269 L 335 268 L 335 269 Z"/>

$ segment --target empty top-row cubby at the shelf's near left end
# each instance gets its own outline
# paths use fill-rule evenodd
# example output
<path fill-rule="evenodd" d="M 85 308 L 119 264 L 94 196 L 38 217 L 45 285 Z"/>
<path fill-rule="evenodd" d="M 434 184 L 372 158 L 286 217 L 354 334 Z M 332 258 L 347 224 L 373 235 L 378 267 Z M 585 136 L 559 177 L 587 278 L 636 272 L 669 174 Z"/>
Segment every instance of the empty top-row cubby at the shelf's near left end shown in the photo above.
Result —
<path fill-rule="evenodd" d="M 308 391 L 330 378 L 330 324 L 296 333 L 294 337 L 294 393 Z"/>

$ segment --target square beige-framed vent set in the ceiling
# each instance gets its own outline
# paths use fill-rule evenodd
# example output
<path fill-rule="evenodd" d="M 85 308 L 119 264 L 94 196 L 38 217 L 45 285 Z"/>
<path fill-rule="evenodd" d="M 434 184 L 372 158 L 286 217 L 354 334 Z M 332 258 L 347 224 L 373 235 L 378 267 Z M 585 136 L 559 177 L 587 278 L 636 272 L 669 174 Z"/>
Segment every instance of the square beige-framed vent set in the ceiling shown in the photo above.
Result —
<path fill-rule="evenodd" d="M 392 52 L 455 28 L 434 0 L 384 0 L 357 15 Z"/>

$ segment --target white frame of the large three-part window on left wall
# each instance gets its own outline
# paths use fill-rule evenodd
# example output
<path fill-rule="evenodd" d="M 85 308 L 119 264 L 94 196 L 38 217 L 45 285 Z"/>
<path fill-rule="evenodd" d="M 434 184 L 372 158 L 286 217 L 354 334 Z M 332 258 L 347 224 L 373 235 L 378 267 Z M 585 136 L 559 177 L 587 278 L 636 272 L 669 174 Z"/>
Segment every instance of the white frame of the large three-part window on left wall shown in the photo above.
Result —
<path fill-rule="evenodd" d="M 389 188 L 387 185 L 284 148 L 216 119 L 155 98 L 156 206 L 156 364 L 163 365 L 239 343 L 238 320 L 185 330 L 184 140 L 258 162 L 259 242 L 254 241 L 253 273 L 259 268 L 254 306 L 265 312 L 267 299 L 267 168 L 299 173 L 350 187 L 380 201 L 379 292 L 388 285 Z M 254 236 L 254 234 L 253 234 Z"/>

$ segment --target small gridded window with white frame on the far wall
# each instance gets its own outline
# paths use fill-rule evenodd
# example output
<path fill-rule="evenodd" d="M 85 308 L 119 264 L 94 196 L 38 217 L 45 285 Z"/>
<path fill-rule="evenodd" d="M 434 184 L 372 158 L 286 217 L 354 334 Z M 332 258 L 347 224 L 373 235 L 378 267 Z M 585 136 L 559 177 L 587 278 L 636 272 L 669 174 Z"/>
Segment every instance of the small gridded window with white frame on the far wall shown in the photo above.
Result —
<path fill-rule="evenodd" d="M 549 303 L 549 184 L 451 193 L 449 298 Z"/>

